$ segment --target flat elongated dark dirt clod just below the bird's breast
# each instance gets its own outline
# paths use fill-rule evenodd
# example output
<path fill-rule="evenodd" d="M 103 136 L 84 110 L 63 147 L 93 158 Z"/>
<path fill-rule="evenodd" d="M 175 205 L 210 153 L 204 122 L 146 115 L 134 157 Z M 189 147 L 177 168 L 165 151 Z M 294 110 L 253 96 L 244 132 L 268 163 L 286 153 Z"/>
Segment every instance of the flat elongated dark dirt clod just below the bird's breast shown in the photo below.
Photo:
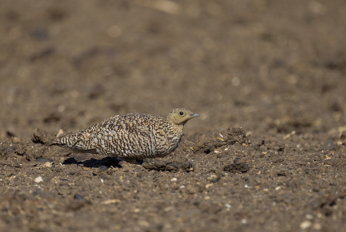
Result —
<path fill-rule="evenodd" d="M 155 160 L 145 161 L 143 167 L 148 170 L 168 171 L 168 172 L 191 172 L 193 171 L 192 163 L 178 163 L 178 162 L 160 162 Z"/>

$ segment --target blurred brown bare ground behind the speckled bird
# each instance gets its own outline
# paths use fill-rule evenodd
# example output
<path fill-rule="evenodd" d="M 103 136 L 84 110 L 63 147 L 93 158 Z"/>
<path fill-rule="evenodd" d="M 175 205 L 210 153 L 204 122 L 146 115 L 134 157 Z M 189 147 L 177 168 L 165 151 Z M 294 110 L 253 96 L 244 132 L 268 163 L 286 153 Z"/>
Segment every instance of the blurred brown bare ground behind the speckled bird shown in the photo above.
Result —
<path fill-rule="evenodd" d="M 0 17 L 1 139 L 175 107 L 201 116 L 190 135 L 345 125 L 343 0 L 2 0 Z"/>

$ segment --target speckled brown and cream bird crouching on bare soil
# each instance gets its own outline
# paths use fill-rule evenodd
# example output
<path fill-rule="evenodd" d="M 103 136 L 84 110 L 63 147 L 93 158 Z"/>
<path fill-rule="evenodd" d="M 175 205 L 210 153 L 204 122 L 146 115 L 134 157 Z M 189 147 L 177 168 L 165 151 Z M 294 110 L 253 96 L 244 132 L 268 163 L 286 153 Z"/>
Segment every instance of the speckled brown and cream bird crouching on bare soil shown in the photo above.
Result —
<path fill-rule="evenodd" d="M 79 153 L 137 160 L 164 157 L 179 145 L 188 120 L 199 117 L 185 108 L 175 108 L 166 118 L 141 113 L 116 115 L 43 146 L 60 146 Z"/>

